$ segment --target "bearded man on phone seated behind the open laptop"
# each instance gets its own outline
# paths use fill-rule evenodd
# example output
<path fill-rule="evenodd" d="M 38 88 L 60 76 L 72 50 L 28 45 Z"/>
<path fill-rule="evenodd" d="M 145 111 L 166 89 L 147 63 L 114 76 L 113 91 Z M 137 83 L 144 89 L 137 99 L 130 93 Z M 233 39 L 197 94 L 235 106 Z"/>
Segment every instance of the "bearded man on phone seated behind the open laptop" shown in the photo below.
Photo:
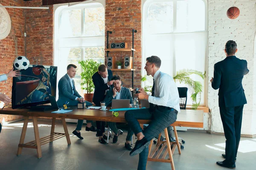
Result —
<path fill-rule="evenodd" d="M 132 96 L 131 96 L 130 89 L 122 87 L 122 82 L 121 82 L 122 78 L 118 75 L 113 76 L 111 78 L 111 80 L 114 80 L 114 82 L 113 82 L 114 88 L 110 91 L 107 91 L 106 97 L 104 99 L 105 105 L 106 106 L 111 106 L 111 103 L 112 103 L 113 99 L 130 99 L 130 108 L 131 108 L 131 104 L 133 103 L 133 99 L 132 99 Z M 116 143 L 117 140 L 118 140 L 118 136 L 119 136 L 119 131 L 116 127 L 116 122 L 108 122 L 108 126 L 115 133 L 115 135 L 113 137 L 113 143 Z M 133 131 L 130 128 L 128 130 L 128 134 L 127 134 L 126 142 L 125 142 L 125 148 L 128 149 L 128 150 L 132 150 L 132 146 L 131 146 L 132 135 L 133 135 Z"/>

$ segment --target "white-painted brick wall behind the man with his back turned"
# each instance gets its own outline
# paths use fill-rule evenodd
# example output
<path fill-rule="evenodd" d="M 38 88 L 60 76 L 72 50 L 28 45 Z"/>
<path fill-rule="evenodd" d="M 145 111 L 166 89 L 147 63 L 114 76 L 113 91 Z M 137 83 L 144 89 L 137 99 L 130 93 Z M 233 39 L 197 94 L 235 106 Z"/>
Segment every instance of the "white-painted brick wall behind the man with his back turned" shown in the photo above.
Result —
<path fill-rule="evenodd" d="M 227 9 L 236 6 L 240 9 L 240 16 L 230 20 Z M 256 6 L 255 0 L 209 0 L 209 56 L 208 76 L 213 76 L 213 65 L 225 58 L 224 45 L 228 40 L 235 40 L 240 59 L 246 59 L 250 73 L 244 76 L 243 87 L 247 98 L 244 106 L 242 134 L 256 134 L 256 59 L 254 57 L 254 39 L 256 32 Z M 253 62 L 254 61 L 254 62 Z M 218 108 L 218 91 L 208 85 L 208 105 L 212 110 L 209 130 L 223 132 Z M 254 126 L 254 127 L 253 127 Z"/>

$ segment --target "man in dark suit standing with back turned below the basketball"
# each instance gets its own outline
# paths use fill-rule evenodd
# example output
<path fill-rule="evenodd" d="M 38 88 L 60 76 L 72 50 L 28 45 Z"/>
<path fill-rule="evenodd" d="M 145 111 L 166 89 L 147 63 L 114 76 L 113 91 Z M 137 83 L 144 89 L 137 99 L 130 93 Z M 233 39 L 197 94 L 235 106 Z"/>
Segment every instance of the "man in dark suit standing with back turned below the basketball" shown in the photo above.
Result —
<path fill-rule="evenodd" d="M 210 80 L 212 88 L 217 90 L 221 121 L 226 138 L 224 161 L 216 163 L 221 167 L 236 169 L 236 155 L 241 136 L 241 124 L 244 104 L 247 103 L 242 79 L 249 73 L 247 61 L 238 59 L 236 42 L 229 40 L 225 45 L 226 58 L 214 65 L 214 77 Z"/>

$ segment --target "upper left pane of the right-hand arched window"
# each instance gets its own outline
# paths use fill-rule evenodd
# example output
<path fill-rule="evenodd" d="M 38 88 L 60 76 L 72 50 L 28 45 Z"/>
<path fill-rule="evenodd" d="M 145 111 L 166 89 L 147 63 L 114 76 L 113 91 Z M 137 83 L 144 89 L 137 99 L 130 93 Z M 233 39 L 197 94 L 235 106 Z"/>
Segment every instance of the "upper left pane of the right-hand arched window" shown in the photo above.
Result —
<path fill-rule="evenodd" d="M 169 33 L 173 31 L 173 2 L 152 3 L 147 11 L 149 33 Z"/>

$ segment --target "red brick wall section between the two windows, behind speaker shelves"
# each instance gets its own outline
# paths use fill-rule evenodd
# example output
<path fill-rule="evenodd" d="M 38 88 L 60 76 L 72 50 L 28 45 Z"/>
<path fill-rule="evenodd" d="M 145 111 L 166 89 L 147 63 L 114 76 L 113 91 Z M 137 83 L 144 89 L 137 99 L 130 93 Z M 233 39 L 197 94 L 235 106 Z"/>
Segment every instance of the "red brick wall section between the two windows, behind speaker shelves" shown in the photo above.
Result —
<path fill-rule="evenodd" d="M 140 0 L 106 0 L 105 11 L 105 44 L 107 48 L 107 31 L 109 34 L 109 43 L 127 42 L 128 48 L 132 48 L 132 29 L 137 30 L 134 33 L 134 87 L 140 87 L 141 76 L 141 1 Z M 109 46 L 110 47 L 110 46 Z M 122 61 L 125 55 L 131 55 L 132 52 L 109 52 L 109 57 L 116 57 Z M 121 56 L 122 55 L 122 56 Z M 113 75 L 119 74 L 125 87 L 131 87 L 131 71 L 114 71 Z M 133 88 L 134 88 L 133 87 Z"/>

